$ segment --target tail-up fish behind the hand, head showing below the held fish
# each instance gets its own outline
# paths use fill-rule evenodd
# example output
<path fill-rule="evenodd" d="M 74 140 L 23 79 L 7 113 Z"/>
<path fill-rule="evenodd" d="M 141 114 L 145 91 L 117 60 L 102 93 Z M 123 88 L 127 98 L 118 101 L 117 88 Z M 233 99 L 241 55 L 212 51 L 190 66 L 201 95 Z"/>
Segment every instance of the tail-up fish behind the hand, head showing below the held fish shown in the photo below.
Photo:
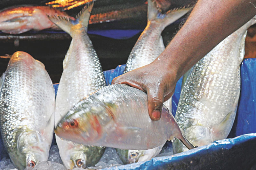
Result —
<path fill-rule="evenodd" d="M 162 1 L 162 3 L 169 4 L 170 2 Z M 124 73 L 153 62 L 165 49 L 161 35 L 164 28 L 185 15 L 192 8 L 188 5 L 172 9 L 166 13 L 161 13 L 158 11 L 156 4 L 157 2 L 155 0 L 148 0 L 147 26 L 140 34 L 140 37 L 132 48 Z M 164 104 L 169 110 L 172 110 L 171 98 Z M 120 158 L 125 158 L 125 163 L 134 163 L 134 161 L 138 162 L 150 160 L 156 156 L 161 149 L 161 147 L 157 146 L 149 151 L 119 151 L 119 149 L 116 149 L 116 152 Z M 132 155 L 134 156 L 132 157 Z"/>

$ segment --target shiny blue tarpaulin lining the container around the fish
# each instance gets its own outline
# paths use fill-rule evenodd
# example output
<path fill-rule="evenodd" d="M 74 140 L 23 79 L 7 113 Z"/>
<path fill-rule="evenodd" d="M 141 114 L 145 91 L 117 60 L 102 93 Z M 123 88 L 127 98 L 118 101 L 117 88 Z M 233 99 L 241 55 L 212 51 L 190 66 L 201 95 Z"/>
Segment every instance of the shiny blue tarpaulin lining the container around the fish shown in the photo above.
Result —
<path fill-rule="evenodd" d="M 107 84 L 121 75 L 125 65 L 104 71 Z M 256 169 L 256 59 L 244 59 L 241 64 L 241 91 L 236 119 L 227 139 L 172 156 L 157 157 L 149 161 L 105 168 L 131 169 Z M 54 85 L 57 91 L 58 85 Z M 175 115 L 180 98 L 181 79 L 172 96 L 172 113 Z M 171 145 L 167 142 L 166 145 Z M 7 157 L 0 141 L 0 159 Z"/>

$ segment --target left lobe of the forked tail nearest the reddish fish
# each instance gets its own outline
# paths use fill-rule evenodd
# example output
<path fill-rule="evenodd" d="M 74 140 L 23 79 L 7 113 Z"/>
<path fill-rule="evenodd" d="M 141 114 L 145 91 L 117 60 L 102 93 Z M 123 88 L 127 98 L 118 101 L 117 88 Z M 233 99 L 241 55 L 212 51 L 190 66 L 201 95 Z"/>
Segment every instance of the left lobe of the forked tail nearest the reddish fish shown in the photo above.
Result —
<path fill-rule="evenodd" d="M 47 17 L 58 27 L 60 27 L 63 31 L 67 32 L 71 35 L 71 27 L 73 26 L 72 21 L 70 18 L 66 18 L 60 15 L 49 16 L 46 14 Z"/>

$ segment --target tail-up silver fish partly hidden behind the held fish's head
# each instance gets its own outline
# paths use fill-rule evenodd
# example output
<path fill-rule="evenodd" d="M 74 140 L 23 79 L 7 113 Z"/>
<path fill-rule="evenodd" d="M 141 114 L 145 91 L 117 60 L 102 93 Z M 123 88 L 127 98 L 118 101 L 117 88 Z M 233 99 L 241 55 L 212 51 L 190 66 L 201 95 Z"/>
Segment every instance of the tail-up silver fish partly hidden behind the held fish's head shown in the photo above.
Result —
<path fill-rule="evenodd" d="M 76 20 L 49 16 L 49 19 L 67 32 L 71 37 L 68 52 L 63 60 L 63 72 L 55 103 L 55 123 L 82 98 L 106 86 L 105 77 L 92 41 L 87 35 L 89 17 L 93 1 L 87 3 Z M 90 147 L 62 140 L 56 136 L 60 157 L 65 167 L 85 168 L 94 166 L 104 153 L 105 147 Z"/>

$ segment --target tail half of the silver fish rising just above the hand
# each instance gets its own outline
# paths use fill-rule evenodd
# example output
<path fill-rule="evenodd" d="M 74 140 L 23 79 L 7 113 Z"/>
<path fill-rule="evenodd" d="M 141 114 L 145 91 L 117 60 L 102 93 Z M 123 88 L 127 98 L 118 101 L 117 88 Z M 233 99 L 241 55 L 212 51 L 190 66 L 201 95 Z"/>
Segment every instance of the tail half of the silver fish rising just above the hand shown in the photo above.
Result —
<path fill-rule="evenodd" d="M 162 14 L 157 10 L 153 0 L 148 0 L 148 23 L 132 48 L 124 73 L 154 61 L 165 49 L 161 35 L 164 28 L 185 15 L 190 9 L 191 7 L 188 6 Z"/>

